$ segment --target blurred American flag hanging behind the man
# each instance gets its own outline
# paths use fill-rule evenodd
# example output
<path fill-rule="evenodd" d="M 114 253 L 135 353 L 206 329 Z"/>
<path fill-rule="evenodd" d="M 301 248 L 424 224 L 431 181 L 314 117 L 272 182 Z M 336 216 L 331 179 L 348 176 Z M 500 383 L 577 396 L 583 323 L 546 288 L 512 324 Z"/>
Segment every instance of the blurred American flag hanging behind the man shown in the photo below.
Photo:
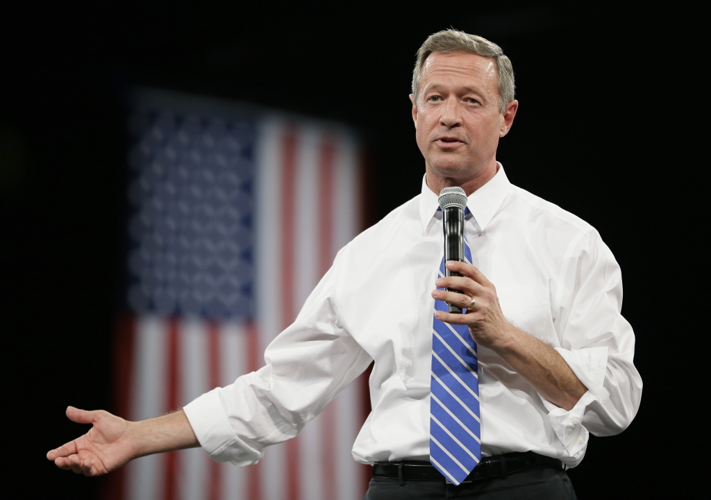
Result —
<path fill-rule="evenodd" d="M 141 90 L 132 101 L 127 304 L 116 337 L 117 408 L 162 415 L 260 368 L 274 336 L 363 228 L 362 152 L 346 127 Z M 143 457 L 113 499 L 360 499 L 351 457 L 364 379 L 260 464 L 203 450 Z"/>

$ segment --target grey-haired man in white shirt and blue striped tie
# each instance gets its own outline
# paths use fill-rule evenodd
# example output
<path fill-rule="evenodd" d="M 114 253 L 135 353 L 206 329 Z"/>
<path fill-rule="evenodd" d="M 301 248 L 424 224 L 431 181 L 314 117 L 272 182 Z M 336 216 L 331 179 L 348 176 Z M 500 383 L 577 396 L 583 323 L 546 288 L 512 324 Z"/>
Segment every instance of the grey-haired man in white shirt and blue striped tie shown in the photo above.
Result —
<path fill-rule="evenodd" d="M 48 459 L 92 476 L 202 446 L 254 464 L 375 361 L 373 411 L 353 445 L 375 464 L 366 498 L 574 497 L 564 468 L 582 460 L 589 432 L 629 425 L 642 384 L 611 252 L 496 161 L 513 97 L 501 48 L 459 31 L 430 36 L 410 96 L 422 193 L 338 253 L 266 366 L 151 420 L 70 407 L 93 427 Z M 442 262 L 437 195 L 451 186 L 466 193 L 469 262 L 446 263 L 461 277 L 444 277 Z"/>

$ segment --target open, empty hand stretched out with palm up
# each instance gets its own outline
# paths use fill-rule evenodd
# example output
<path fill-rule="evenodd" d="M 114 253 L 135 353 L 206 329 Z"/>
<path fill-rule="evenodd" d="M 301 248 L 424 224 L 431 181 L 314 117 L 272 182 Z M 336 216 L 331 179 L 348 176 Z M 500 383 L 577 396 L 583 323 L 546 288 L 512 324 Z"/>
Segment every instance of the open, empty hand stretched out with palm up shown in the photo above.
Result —
<path fill-rule="evenodd" d="M 80 424 L 92 424 L 85 435 L 50 451 L 60 469 L 85 476 L 100 476 L 118 469 L 137 456 L 127 420 L 104 410 L 86 411 L 70 406 L 67 417 Z"/>

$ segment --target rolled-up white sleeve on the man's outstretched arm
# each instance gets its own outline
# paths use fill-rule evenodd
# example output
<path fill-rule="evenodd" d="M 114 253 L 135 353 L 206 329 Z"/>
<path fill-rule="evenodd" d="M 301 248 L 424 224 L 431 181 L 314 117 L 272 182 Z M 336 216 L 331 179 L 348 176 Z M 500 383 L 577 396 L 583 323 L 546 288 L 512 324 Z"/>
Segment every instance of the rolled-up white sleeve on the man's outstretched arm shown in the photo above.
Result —
<path fill-rule="evenodd" d="M 255 464 L 265 447 L 298 435 L 373 361 L 338 322 L 338 265 L 337 257 L 296 321 L 269 344 L 265 366 L 183 408 L 216 461 Z"/>

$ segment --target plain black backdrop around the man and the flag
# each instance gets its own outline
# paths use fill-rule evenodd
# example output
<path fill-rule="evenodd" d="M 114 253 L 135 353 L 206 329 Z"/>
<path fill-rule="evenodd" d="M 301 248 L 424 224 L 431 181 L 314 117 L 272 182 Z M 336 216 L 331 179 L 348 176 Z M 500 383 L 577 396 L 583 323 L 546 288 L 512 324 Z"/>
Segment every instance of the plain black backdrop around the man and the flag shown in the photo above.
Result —
<path fill-rule="evenodd" d="M 679 477 L 690 486 L 707 439 L 695 399 L 705 390 L 695 360 L 707 255 L 699 243 L 707 223 L 695 215 L 705 168 L 701 18 L 597 2 L 144 2 L 36 6 L 6 18 L 0 187 L 11 484 L 27 498 L 92 499 L 100 490 L 44 455 L 82 432 L 65 419 L 66 405 L 112 408 L 128 92 L 158 87 L 352 124 L 372 152 L 378 220 L 419 193 L 412 64 L 427 35 L 452 26 L 499 43 L 513 62 L 520 107 L 498 154 L 509 179 L 592 223 L 622 268 L 642 404 L 622 435 L 592 437 L 570 471 L 579 498 L 668 496 Z"/>

